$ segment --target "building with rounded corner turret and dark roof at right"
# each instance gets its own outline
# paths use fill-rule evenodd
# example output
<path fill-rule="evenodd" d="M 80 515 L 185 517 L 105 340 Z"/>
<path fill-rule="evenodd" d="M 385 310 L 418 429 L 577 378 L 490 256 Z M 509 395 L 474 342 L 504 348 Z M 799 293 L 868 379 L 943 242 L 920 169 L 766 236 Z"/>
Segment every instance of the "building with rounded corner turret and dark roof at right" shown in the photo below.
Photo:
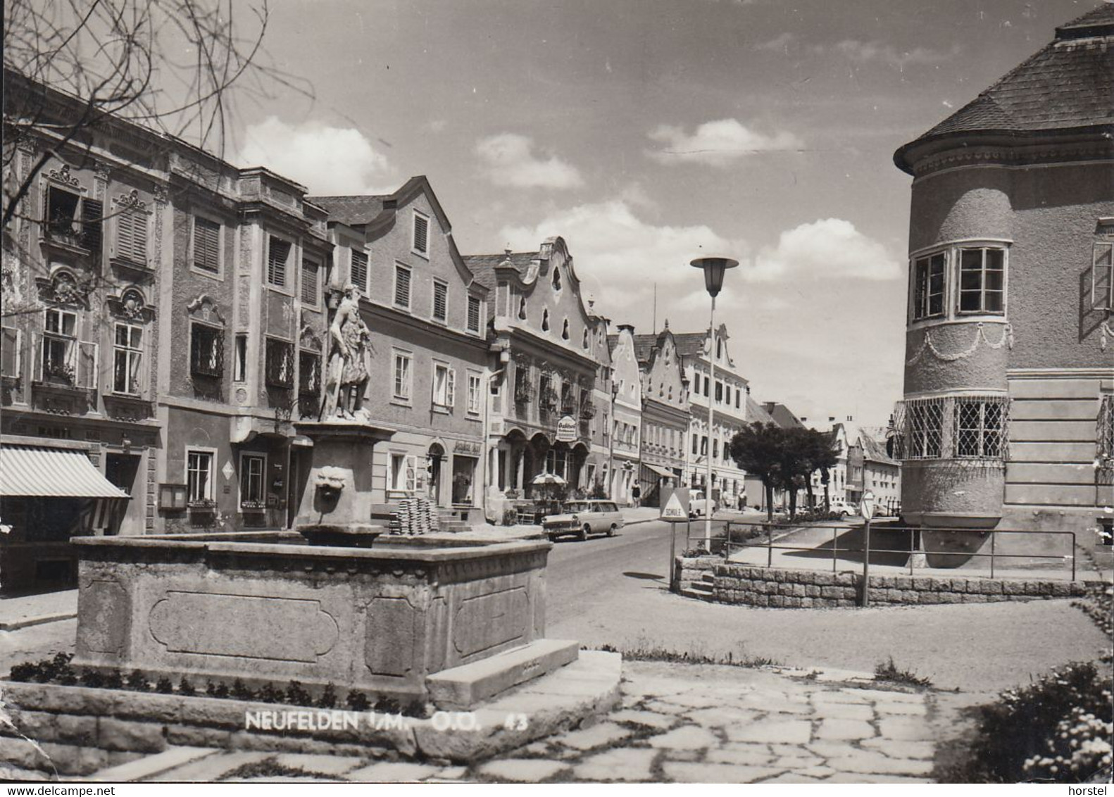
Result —
<path fill-rule="evenodd" d="M 893 156 L 913 178 L 896 419 L 911 523 L 1112 523 L 1112 97 L 1102 3 Z M 1064 539 L 1001 535 L 998 550 L 1063 554 Z"/>

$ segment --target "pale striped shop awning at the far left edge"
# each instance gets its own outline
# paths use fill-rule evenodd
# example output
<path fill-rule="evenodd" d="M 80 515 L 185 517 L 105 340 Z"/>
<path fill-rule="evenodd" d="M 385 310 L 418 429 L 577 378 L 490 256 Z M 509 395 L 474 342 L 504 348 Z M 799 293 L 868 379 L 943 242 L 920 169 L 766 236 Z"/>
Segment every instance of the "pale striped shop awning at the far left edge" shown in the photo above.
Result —
<path fill-rule="evenodd" d="M 128 499 L 84 451 L 39 445 L 0 446 L 0 495 Z"/>

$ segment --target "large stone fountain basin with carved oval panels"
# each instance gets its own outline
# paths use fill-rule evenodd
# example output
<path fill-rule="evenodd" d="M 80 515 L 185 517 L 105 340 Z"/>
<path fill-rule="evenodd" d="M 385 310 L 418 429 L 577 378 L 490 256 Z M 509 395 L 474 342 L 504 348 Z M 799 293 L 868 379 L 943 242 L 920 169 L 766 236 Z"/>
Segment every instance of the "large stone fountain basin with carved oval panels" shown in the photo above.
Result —
<path fill-rule="evenodd" d="M 185 675 L 201 688 L 334 683 L 405 702 L 428 699 L 434 673 L 545 636 L 547 541 L 336 548 L 236 532 L 74 542 L 76 666 L 175 683 Z"/>

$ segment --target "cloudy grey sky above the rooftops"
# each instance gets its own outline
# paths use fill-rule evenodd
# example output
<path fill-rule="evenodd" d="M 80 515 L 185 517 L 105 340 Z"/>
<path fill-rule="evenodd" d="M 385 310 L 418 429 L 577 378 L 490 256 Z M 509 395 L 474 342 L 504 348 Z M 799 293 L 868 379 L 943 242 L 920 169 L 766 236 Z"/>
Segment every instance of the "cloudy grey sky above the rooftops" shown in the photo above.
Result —
<path fill-rule="evenodd" d="M 271 0 L 312 98 L 228 142 L 311 194 L 426 175 L 463 254 L 566 239 L 636 333 L 716 323 L 759 401 L 883 425 L 901 397 L 911 178 L 893 150 L 1098 0 Z M 656 302 L 655 302 L 656 294 Z"/>

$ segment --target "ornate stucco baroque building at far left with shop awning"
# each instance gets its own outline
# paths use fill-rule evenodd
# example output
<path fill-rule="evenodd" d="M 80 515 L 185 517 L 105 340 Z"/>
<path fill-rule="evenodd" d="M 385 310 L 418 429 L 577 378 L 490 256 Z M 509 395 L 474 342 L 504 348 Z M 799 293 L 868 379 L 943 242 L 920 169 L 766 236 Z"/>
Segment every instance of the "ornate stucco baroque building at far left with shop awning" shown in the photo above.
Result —
<path fill-rule="evenodd" d="M 320 346 L 324 214 L 304 188 L 6 72 L 6 588 L 71 582 L 75 533 L 285 525 L 297 354 Z M 303 361 L 307 362 L 307 361 Z M 75 455 L 76 454 L 76 455 Z"/>

